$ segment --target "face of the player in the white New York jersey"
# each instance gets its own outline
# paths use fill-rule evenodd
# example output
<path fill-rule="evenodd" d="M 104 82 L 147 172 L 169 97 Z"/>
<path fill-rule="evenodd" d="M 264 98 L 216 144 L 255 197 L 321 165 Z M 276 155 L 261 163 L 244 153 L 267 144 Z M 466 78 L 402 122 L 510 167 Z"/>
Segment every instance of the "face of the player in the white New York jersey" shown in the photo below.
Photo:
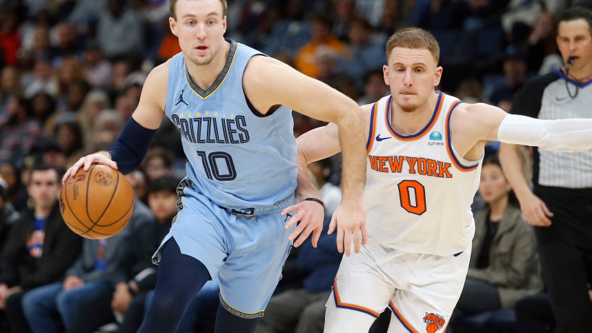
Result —
<path fill-rule="evenodd" d="M 393 48 L 382 70 L 395 103 L 405 112 L 425 105 L 442 76 L 442 67 L 437 67 L 431 52 L 424 48 Z"/>

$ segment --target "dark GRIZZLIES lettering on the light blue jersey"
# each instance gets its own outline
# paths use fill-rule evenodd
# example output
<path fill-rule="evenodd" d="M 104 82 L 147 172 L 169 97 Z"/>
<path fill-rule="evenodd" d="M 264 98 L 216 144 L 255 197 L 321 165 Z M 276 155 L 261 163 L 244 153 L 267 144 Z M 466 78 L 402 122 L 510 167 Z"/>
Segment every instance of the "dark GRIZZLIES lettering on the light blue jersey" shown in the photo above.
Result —
<path fill-rule="evenodd" d="M 173 123 L 190 143 L 246 143 L 249 141 L 244 116 L 224 112 L 172 114 Z"/>

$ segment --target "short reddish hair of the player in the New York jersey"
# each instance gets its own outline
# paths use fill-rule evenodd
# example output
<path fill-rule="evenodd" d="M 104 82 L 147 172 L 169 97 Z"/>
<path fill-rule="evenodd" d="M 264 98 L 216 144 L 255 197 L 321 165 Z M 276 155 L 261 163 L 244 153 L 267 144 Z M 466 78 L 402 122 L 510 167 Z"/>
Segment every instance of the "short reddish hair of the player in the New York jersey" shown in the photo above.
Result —
<path fill-rule="evenodd" d="M 440 62 L 440 46 L 430 32 L 420 28 L 403 28 L 398 30 L 386 42 L 386 58 L 393 48 L 424 48 L 430 51 L 436 63 Z"/>

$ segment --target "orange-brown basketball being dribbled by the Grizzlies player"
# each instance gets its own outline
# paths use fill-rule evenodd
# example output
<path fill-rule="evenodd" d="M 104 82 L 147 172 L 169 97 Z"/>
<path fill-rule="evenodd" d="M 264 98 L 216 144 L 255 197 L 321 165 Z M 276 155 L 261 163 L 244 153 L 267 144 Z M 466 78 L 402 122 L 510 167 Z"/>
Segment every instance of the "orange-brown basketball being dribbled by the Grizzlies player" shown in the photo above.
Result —
<path fill-rule="evenodd" d="M 73 232 L 88 239 L 117 234 L 130 221 L 134 191 L 121 172 L 94 164 L 78 170 L 61 188 L 59 210 Z"/>

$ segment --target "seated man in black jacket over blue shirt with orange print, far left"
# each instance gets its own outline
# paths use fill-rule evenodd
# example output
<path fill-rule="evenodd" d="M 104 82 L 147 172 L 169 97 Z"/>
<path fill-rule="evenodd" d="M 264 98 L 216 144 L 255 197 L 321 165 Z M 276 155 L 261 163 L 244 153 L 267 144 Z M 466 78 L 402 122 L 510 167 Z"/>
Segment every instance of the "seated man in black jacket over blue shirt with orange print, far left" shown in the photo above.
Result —
<path fill-rule="evenodd" d="M 0 261 L 0 309 L 6 311 L 12 332 L 29 332 L 21 299 L 29 290 L 59 281 L 76 260 L 82 239 L 59 213 L 59 172 L 35 166 L 27 191 L 34 201 L 8 234 Z"/>

